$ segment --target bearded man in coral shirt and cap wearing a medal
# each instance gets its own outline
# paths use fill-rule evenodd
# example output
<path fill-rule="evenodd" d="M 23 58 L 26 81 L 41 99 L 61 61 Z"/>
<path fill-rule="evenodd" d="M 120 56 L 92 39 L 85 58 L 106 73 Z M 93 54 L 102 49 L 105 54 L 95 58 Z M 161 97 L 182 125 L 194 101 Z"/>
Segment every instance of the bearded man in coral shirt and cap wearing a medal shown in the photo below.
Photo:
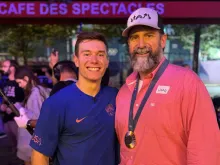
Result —
<path fill-rule="evenodd" d="M 121 165 L 217 165 L 219 130 L 211 98 L 191 70 L 168 64 L 167 36 L 155 10 L 128 18 L 134 72 L 116 101 Z"/>

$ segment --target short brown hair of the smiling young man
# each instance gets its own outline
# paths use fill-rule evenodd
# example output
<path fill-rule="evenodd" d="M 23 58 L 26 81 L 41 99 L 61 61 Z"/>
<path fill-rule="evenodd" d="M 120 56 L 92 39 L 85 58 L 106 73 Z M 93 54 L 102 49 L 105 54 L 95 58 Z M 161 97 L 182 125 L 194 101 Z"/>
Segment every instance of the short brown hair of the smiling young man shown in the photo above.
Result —
<path fill-rule="evenodd" d="M 98 40 L 105 44 L 106 49 L 108 50 L 108 44 L 105 39 L 105 36 L 102 33 L 98 32 L 81 32 L 77 36 L 76 45 L 75 45 L 75 55 L 78 56 L 79 53 L 79 44 L 84 40 Z"/>

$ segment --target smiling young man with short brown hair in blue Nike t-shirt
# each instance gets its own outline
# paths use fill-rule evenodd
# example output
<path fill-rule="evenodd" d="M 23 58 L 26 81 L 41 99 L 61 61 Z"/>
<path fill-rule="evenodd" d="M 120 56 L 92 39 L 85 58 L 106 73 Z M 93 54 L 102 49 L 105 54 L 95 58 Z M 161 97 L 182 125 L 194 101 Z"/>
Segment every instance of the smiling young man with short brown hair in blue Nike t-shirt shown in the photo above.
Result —
<path fill-rule="evenodd" d="M 101 86 L 108 67 L 107 42 L 96 32 L 77 37 L 79 79 L 43 104 L 31 140 L 32 165 L 115 165 L 115 97 Z"/>

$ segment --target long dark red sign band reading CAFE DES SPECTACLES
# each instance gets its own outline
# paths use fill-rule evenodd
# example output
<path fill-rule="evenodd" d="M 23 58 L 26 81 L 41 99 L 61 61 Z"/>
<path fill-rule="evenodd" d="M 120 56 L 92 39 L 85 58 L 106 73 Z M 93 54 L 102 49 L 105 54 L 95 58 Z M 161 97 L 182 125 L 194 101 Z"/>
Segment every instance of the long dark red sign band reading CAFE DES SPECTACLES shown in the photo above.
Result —
<path fill-rule="evenodd" d="M 127 18 L 134 10 L 148 7 L 164 18 L 220 18 L 218 1 L 179 2 L 0 2 L 1 18 Z"/>

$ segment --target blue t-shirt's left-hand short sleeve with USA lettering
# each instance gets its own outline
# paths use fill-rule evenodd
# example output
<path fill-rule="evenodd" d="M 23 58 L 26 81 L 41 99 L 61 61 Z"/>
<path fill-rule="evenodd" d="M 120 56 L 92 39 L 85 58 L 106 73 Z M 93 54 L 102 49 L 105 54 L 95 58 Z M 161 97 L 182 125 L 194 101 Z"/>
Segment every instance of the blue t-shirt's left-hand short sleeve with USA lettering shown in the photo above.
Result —
<path fill-rule="evenodd" d="M 36 151 L 52 156 L 56 151 L 64 123 L 64 110 L 53 99 L 47 99 L 40 112 L 30 146 Z"/>

